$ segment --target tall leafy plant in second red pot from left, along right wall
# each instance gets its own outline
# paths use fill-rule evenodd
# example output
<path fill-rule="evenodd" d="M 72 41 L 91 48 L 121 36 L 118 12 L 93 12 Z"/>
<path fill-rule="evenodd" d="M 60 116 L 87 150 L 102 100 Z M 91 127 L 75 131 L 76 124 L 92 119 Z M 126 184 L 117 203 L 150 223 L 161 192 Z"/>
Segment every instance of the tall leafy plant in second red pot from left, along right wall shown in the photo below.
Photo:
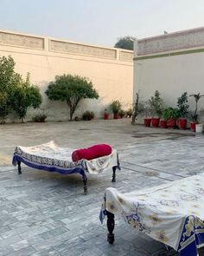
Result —
<path fill-rule="evenodd" d="M 151 118 L 151 124 L 153 127 L 159 126 L 160 117 L 163 114 L 163 99 L 160 96 L 158 90 L 155 91 L 155 95 L 153 95 L 150 100 L 150 108 L 153 112 L 153 117 Z"/>

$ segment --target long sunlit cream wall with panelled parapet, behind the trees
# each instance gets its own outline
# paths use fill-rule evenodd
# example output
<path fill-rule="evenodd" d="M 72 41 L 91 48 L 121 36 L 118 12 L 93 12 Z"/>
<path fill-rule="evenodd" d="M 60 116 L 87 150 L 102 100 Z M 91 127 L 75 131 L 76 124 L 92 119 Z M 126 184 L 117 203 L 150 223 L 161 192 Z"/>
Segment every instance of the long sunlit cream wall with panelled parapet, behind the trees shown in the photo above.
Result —
<path fill-rule="evenodd" d="M 130 108 L 133 91 L 133 52 L 125 49 L 104 48 L 82 43 L 60 41 L 40 36 L 29 36 L 0 31 L 0 56 L 12 56 L 16 72 L 41 89 L 41 108 L 48 113 L 48 120 L 68 120 L 65 102 L 50 102 L 45 90 L 55 75 L 72 74 L 88 77 L 99 92 L 99 100 L 83 100 L 76 115 L 86 110 L 101 117 L 113 100 Z M 27 119 L 35 115 L 30 110 Z"/>

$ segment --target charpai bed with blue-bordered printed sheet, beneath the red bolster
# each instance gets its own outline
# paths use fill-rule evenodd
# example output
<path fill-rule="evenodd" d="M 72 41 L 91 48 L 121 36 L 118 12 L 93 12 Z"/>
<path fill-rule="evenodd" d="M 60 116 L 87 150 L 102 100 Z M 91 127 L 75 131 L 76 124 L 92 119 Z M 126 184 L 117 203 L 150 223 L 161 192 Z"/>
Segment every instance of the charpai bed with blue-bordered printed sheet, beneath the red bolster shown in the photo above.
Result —
<path fill-rule="evenodd" d="M 112 168 L 112 181 L 116 181 L 116 168 L 119 168 L 118 153 L 112 149 L 112 154 L 90 161 L 82 159 L 72 161 L 72 148 L 61 148 L 54 141 L 33 146 L 15 148 L 12 164 L 18 166 L 18 174 L 22 174 L 21 162 L 35 169 L 57 172 L 59 174 L 81 174 L 84 182 L 84 194 L 87 193 L 86 174 L 99 174 Z"/>

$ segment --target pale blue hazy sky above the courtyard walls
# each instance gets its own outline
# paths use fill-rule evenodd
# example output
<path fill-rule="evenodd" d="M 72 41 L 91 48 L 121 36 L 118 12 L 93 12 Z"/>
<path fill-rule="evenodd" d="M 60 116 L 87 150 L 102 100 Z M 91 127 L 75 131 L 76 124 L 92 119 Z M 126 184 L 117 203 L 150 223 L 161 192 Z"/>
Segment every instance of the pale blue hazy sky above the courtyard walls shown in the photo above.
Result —
<path fill-rule="evenodd" d="M 0 0 L 0 30 L 112 47 L 204 26 L 204 0 Z"/>

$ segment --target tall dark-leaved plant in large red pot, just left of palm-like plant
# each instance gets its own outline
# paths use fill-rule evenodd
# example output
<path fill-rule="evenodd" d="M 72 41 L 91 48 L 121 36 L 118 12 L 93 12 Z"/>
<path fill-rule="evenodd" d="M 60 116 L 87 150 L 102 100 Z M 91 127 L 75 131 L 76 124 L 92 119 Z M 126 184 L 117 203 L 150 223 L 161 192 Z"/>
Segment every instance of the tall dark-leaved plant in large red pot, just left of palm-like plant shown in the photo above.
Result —
<path fill-rule="evenodd" d="M 179 128 L 185 129 L 187 128 L 187 115 L 188 115 L 188 93 L 184 92 L 178 98 L 177 107 L 179 108 Z"/>

